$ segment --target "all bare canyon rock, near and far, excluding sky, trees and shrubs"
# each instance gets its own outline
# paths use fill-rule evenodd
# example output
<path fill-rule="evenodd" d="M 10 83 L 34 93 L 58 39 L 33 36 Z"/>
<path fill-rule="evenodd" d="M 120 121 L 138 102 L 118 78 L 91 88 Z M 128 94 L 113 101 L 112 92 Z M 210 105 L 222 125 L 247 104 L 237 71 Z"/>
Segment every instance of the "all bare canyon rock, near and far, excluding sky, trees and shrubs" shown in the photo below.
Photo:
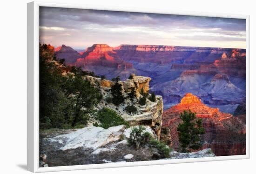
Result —
<path fill-rule="evenodd" d="M 43 160 L 40 166 L 164 159 L 155 147 L 135 150 L 129 146 L 130 132 L 138 126 L 145 127 L 155 140 L 172 148 L 165 159 L 245 154 L 245 50 L 151 45 L 109 47 L 107 44 L 94 44 L 84 52 L 65 45 L 48 49 L 57 60 L 65 59 L 64 64 L 51 60 L 60 67 L 63 76 L 74 75 L 66 65 L 93 71 L 96 75 L 82 78 L 102 95 L 94 111 L 112 109 L 129 126 L 104 129 L 98 127 L 98 120 L 90 114 L 83 128 L 42 131 L 40 154 L 47 156 L 47 164 Z M 109 80 L 116 76 L 120 80 Z M 124 99 L 119 105 L 109 102 L 113 97 L 111 87 L 116 83 L 121 85 Z M 132 91 L 135 97 L 131 100 Z M 153 94 L 148 94 L 141 105 L 141 91 L 154 91 L 155 100 L 150 98 Z M 135 113 L 129 113 L 128 106 L 135 107 Z M 201 136 L 202 147 L 191 153 L 179 152 L 177 127 L 184 110 L 195 112 L 206 132 Z"/>

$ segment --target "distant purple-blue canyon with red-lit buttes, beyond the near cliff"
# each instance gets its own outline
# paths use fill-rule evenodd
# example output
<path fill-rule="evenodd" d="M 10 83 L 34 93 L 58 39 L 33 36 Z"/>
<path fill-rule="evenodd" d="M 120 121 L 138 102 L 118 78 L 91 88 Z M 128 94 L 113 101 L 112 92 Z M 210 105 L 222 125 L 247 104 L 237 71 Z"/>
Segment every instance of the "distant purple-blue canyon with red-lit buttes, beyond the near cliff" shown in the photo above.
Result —
<path fill-rule="evenodd" d="M 62 45 L 55 53 L 68 65 L 108 79 L 149 76 L 149 90 L 162 95 L 165 110 L 186 93 L 230 114 L 245 104 L 245 49 L 94 44 L 83 52 Z"/>

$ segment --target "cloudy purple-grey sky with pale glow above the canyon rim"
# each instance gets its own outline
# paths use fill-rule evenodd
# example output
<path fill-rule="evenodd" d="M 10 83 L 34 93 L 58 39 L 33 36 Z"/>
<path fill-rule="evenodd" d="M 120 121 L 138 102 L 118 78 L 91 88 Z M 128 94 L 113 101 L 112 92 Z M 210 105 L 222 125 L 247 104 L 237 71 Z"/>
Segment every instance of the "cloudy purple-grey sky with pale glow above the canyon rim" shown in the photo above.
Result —
<path fill-rule="evenodd" d="M 40 7 L 40 42 L 86 49 L 93 44 L 245 48 L 245 20 Z"/>

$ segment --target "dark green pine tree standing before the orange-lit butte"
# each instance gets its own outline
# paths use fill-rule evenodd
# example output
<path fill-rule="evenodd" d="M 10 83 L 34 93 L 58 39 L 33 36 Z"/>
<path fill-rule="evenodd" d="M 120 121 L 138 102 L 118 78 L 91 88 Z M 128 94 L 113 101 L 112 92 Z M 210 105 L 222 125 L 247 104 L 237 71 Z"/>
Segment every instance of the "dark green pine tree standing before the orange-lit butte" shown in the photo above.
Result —
<path fill-rule="evenodd" d="M 183 121 L 179 123 L 177 130 L 179 134 L 179 143 L 182 152 L 189 152 L 190 149 L 199 149 L 202 147 L 201 134 L 205 134 L 202 127 L 202 119 L 195 120 L 195 113 L 183 111 L 180 114 L 180 119 Z"/>

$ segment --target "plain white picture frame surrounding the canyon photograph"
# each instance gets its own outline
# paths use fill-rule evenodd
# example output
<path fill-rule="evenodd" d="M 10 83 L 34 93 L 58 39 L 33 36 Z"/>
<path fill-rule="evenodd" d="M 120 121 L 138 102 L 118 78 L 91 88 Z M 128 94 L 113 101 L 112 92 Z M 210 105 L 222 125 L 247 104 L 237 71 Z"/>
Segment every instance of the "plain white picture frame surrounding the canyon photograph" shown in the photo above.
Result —
<path fill-rule="evenodd" d="M 246 154 L 217 156 L 208 158 L 174 159 L 161 161 L 137 161 L 127 163 L 89 164 L 61 167 L 39 167 L 39 7 L 65 7 L 95 10 L 111 10 L 142 13 L 180 14 L 208 17 L 225 17 L 246 20 Z M 160 165 L 202 161 L 221 161 L 249 158 L 249 15 L 225 13 L 183 12 L 172 9 L 147 9 L 115 6 L 96 6 L 90 4 L 50 3 L 34 1 L 27 4 L 27 170 L 31 172 L 52 172 L 108 167 L 128 167 L 141 165 Z"/>

